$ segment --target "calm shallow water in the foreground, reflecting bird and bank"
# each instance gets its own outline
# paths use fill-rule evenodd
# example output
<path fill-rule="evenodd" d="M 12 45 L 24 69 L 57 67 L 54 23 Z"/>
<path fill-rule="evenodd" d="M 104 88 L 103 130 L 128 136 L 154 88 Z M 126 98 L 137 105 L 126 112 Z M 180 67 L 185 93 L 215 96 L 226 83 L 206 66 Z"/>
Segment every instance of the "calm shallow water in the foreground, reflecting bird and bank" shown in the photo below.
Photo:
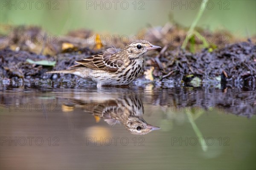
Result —
<path fill-rule="evenodd" d="M 256 167 L 255 91 L 147 85 L 0 94 L 1 170 Z M 123 115 L 161 129 L 134 135 L 112 120 Z"/>

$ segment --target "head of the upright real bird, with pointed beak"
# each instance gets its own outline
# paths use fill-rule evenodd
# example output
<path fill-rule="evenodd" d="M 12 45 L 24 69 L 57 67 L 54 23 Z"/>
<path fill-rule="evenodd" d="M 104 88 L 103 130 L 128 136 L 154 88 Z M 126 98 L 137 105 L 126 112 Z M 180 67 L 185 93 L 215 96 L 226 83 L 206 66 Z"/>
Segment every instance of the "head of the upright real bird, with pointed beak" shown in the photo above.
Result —
<path fill-rule="evenodd" d="M 124 50 L 128 53 L 130 58 L 139 58 L 142 57 L 149 50 L 154 50 L 157 48 L 161 48 L 157 45 L 152 45 L 150 42 L 145 40 L 135 40 L 129 42 Z"/>

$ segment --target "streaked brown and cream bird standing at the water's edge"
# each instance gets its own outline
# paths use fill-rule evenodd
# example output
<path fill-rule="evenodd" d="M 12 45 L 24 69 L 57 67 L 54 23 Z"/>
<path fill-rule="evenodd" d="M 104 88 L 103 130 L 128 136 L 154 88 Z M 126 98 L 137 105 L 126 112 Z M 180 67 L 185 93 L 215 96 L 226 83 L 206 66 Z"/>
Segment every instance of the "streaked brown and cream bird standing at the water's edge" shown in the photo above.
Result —
<path fill-rule="evenodd" d="M 152 45 L 146 40 L 134 40 L 122 50 L 108 48 L 100 54 L 76 61 L 77 65 L 73 65 L 67 70 L 47 73 L 74 74 L 97 82 L 97 88 L 129 85 L 140 76 L 144 65 L 143 54 L 157 48 L 161 47 Z"/>

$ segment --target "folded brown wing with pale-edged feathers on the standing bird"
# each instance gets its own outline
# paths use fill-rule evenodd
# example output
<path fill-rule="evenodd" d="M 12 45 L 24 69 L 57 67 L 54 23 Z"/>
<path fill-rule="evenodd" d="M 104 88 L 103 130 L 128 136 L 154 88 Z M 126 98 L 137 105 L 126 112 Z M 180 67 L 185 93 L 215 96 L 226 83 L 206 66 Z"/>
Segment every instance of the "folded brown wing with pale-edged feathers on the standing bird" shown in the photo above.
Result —
<path fill-rule="evenodd" d="M 74 65 L 70 68 L 72 69 L 85 66 L 92 69 L 116 72 L 124 64 L 121 56 L 118 55 L 119 51 L 120 49 L 108 48 L 103 53 L 76 61 L 78 65 Z"/>

